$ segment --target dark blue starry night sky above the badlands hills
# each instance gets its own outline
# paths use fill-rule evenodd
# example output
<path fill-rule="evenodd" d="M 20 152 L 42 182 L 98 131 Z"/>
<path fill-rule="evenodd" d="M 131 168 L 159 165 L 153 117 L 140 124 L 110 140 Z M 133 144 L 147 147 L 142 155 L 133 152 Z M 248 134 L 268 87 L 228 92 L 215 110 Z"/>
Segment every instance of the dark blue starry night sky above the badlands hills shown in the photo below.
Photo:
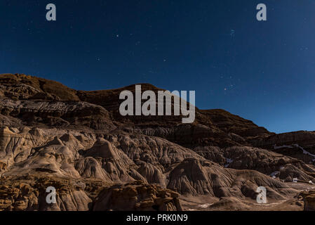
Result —
<path fill-rule="evenodd" d="M 256 20 L 260 3 L 267 22 Z M 313 0 L 1 0 L 0 73 L 83 90 L 196 90 L 199 108 L 315 130 L 314 30 Z"/>

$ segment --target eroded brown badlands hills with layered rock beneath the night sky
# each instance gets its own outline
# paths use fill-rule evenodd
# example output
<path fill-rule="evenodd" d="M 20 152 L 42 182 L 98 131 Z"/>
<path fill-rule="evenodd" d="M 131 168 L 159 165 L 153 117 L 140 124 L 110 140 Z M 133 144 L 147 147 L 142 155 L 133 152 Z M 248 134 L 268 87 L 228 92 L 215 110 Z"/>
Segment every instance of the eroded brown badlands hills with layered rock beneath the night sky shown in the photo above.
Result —
<path fill-rule="evenodd" d="M 196 109 L 193 124 L 122 117 L 134 85 L 76 91 L 6 74 L 0 86 L 0 210 L 315 209 L 315 132 L 274 134 L 224 110 Z"/>

